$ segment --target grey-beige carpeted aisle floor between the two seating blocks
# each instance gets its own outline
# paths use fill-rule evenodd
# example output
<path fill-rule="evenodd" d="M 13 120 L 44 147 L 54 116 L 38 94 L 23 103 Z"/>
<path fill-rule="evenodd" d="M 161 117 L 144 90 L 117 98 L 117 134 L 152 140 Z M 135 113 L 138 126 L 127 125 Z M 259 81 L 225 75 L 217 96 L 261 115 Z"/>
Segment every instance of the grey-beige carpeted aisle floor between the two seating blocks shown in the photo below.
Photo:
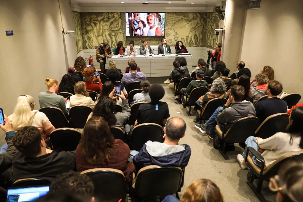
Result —
<path fill-rule="evenodd" d="M 227 153 L 230 160 L 224 160 L 219 151 L 213 148 L 213 142 L 195 128 L 193 119 L 196 114 L 193 108 L 191 116 L 188 116 L 186 113 L 188 107 L 183 108 L 182 105 L 175 103 L 173 93 L 168 88 L 168 84 L 163 83 L 165 79 L 167 78 L 148 78 L 151 84 L 161 83 L 164 86 L 165 96 L 162 101 L 168 103 L 170 116 L 181 116 L 187 124 L 185 137 L 180 140 L 180 143 L 186 143 L 191 147 L 191 158 L 185 169 L 185 183 L 180 197 L 182 197 L 183 192 L 192 181 L 206 178 L 218 185 L 225 202 L 259 201 L 246 183 L 248 170 L 242 170 L 236 158 L 237 154 L 243 153 L 243 149 L 236 145 L 235 151 Z M 269 191 L 268 182 L 264 182 L 263 186 L 265 187 L 263 195 L 268 202 L 275 201 L 275 194 Z"/>

